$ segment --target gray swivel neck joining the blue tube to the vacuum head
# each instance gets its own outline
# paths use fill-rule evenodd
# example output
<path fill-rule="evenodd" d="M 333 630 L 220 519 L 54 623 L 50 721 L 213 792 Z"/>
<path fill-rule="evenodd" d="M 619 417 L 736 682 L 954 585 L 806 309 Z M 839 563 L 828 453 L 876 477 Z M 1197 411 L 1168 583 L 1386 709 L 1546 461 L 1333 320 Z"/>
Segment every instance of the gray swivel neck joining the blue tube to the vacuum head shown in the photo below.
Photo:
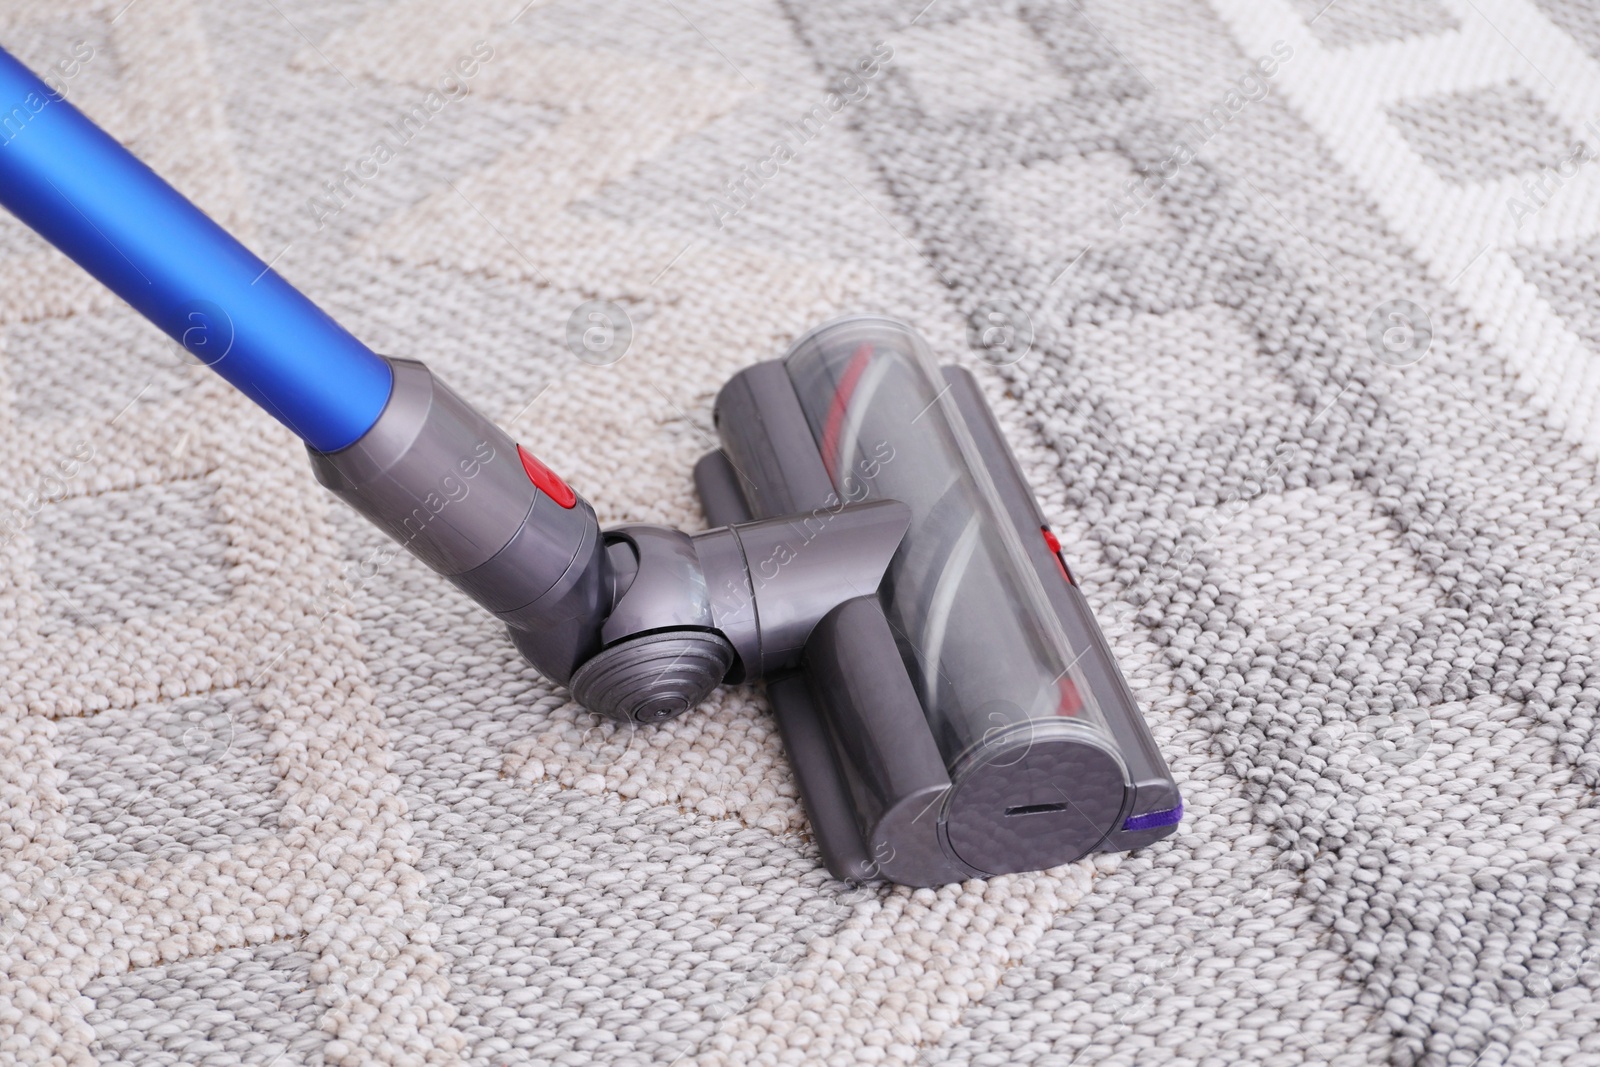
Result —
<path fill-rule="evenodd" d="M 723 681 L 794 670 L 818 621 L 877 589 L 906 534 L 898 501 L 824 502 L 699 534 L 602 533 L 587 501 L 541 490 L 542 466 L 427 366 L 389 365 L 394 389 L 373 427 L 336 453 L 310 450 L 317 480 L 602 715 L 662 721 Z"/>

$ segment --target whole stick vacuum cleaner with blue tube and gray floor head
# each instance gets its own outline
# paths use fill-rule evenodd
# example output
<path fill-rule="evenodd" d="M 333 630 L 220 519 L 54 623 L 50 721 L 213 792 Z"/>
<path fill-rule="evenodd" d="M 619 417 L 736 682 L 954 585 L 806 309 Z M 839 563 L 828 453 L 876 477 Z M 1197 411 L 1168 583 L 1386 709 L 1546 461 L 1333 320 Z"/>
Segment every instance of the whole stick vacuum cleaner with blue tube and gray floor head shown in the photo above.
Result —
<path fill-rule="evenodd" d="M 595 713 L 766 686 L 829 870 L 931 886 L 1174 830 L 1182 801 L 974 379 L 853 317 L 717 395 L 704 533 L 589 502 L 341 328 L 0 51 L 0 203 L 206 363 L 317 480 Z"/>

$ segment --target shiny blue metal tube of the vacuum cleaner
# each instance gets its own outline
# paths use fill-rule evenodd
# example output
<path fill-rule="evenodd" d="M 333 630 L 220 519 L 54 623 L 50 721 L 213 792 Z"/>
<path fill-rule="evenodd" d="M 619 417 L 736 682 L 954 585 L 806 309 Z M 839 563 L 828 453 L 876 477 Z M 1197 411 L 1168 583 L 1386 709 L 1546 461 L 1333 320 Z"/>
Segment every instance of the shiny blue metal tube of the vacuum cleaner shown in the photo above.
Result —
<path fill-rule="evenodd" d="M 312 448 L 382 413 L 382 358 L 5 50 L 0 205 Z"/>

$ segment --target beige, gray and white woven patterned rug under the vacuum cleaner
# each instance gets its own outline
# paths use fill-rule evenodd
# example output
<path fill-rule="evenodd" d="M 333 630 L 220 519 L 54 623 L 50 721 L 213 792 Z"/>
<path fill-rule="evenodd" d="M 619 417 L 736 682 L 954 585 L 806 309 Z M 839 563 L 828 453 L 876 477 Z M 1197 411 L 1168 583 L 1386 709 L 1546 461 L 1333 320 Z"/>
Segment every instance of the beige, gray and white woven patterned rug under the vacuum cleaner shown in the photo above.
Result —
<path fill-rule="evenodd" d="M 758 691 L 598 725 L 6 218 L 0 1062 L 1600 1064 L 1594 6 L 923 5 L 13 0 L 0 42 L 608 523 L 704 525 L 736 368 L 914 322 L 1179 832 L 830 880 Z"/>

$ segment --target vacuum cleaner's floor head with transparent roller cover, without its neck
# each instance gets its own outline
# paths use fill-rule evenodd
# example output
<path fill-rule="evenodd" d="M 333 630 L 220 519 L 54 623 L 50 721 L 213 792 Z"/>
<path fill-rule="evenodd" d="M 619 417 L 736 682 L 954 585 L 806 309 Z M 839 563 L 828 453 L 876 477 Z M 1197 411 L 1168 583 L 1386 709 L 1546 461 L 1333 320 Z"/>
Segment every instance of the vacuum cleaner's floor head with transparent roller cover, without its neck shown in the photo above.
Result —
<path fill-rule="evenodd" d="M 717 397 L 714 523 L 797 517 L 778 581 L 848 506 L 910 523 L 883 582 L 768 691 L 829 869 L 939 885 L 1173 832 L 1182 803 L 973 378 L 906 325 L 845 318 Z"/>

